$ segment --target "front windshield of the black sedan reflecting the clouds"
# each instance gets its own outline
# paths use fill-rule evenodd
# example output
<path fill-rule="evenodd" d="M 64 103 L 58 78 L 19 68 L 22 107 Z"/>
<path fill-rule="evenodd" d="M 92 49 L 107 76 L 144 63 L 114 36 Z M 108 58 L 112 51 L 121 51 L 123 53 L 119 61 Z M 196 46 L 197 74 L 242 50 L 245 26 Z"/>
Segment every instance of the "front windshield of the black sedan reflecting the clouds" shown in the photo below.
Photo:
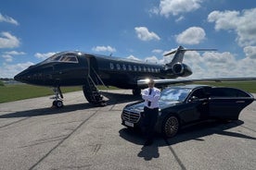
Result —
<path fill-rule="evenodd" d="M 167 88 L 161 91 L 160 101 L 184 102 L 191 89 Z"/>

